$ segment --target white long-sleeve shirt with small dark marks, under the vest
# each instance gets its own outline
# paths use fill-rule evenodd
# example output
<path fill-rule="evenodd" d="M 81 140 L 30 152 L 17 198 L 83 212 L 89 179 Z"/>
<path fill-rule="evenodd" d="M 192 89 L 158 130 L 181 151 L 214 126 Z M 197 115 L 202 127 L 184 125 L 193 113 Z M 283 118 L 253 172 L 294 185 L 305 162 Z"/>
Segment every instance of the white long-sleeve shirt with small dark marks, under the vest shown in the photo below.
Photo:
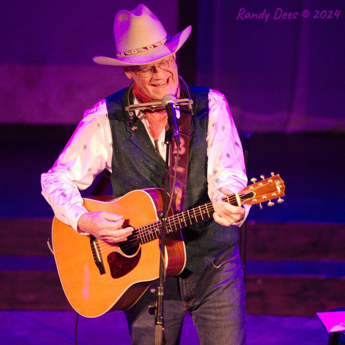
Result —
<path fill-rule="evenodd" d="M 207 182 L 208 196 L 213 200 L 224 196 L 220 193 L 224 186 L 233 193 L 241 191 L 247 185 L 247 176 L 241 141 L 225 96 L 210 89 L 208 106 Z M 76 231 L 80 216 L 87 212 L 79 190 L 89 187 L 104 169 L 111 172 L 112 136 L 107 115 L 105 99 L 86 110 L 52 168 L 41 176 L 42 195 L 55 216 Z M 136 115 L 154 144 L 146 117 L 141 111 Z M 164 138 L 165 129 L 157 139 L 159 154 L 165 160 Z M 249 208 L 245 205 L 245 217 Z"/>

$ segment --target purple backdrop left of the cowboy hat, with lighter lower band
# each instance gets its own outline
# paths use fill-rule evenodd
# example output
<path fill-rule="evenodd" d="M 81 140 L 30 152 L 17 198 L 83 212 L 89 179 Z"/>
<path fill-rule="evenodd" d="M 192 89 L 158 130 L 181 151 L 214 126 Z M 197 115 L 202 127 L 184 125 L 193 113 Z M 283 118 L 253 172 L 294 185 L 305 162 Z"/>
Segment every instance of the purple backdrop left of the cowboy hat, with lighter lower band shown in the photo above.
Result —
<path fill-rule="evenodd" d="M 114 18 L 138 1 L 23 0 L 1 6 L 0 122 L 78 124 L 83 112 L 130 82 L 121 67 L 93 56 L 116 57 Z M 177 33 L 176 0 L 145 2 Z"/>

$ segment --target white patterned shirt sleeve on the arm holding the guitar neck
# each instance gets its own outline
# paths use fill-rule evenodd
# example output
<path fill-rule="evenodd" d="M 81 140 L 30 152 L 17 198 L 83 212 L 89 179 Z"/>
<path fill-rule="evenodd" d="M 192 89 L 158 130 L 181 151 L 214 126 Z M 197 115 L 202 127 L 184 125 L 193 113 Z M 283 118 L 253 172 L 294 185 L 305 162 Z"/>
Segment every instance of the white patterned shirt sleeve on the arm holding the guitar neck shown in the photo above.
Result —
<path fill-rule="evenodd" d="M 213 200 L 224 197 L 221 187 L 237 193 L 247 186 L 248 179 L 242 144 L 225 96 L 210 89 L 208 102 L 207 182 L 208 196 Z M 250 205 L 244 207 L 247 217 Z"/>

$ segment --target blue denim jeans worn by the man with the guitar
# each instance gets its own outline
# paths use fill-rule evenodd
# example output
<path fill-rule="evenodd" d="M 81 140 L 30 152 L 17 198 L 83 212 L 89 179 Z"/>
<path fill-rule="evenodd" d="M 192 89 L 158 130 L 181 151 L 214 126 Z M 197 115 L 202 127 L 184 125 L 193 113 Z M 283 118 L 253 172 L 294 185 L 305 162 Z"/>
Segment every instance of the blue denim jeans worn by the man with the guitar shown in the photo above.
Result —
<path fill-rule="evenodd" d="M 152 285 L 157 286 L 158 280 Z M 246 343 L 245 287 L 237 245 L 200 274 L 184 270 L 178 277 L 168 277 L 164 286 L 167 345 L 180 343 L 186 312 L 193 317 L 201 345 Z M 155 317 L 148 314 L 148 306 L 155 303 L 156 295 L 147 290 L 126 312 L 132 344 L 154 344 Z"/>

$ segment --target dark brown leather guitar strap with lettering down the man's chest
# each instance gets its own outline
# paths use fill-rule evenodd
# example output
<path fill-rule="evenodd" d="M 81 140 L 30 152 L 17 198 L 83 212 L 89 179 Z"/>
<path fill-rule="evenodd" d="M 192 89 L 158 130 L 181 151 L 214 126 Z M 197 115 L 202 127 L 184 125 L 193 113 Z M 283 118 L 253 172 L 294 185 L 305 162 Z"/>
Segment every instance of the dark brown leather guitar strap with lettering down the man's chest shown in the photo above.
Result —
<path fill-rule="evenodd" d="M 182 89 L 181 89 L 182 93 Z M 180 96 L 185 98 L 185 96 Z M 187 97 L 187 96 L 186 96 Z M 175 140 L 172 140 L 172 149 L 170 150 L 170 191 L 173 189 L 173 198 L 171 207 L 174 213 L 184 211 L 186 198 L 186 185 L 188 173 L 188 159 L 189 159 L 189 141 L 190 141 L 190 121 L 191 114 L 188 106 L 180 106 L 180 118 L 178 119 L 178 127 L 180 132 L 180 150 L 178 156 L 178 165 L 176 172 L 176 182 L 174 188 L 172 183 L 174 181 L 175 164 L 177 155 L 177 146 Z"/>

